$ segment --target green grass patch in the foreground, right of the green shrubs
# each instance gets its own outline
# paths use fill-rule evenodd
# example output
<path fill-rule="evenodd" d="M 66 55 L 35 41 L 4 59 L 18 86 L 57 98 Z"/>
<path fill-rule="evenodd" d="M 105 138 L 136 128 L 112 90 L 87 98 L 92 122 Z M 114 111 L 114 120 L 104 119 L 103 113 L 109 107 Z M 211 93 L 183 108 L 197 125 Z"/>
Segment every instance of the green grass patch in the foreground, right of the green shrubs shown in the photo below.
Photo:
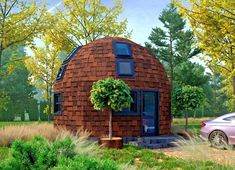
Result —
<path fill-rule="evenodd" d="M 162 152 L 126 145 L 121 150 L 103 149 L 101 159 L 109 158 L 119 164 L 129 164 L 138 169 L 232 169 L 209 161 L 193 161 L 168 157 Z"/>

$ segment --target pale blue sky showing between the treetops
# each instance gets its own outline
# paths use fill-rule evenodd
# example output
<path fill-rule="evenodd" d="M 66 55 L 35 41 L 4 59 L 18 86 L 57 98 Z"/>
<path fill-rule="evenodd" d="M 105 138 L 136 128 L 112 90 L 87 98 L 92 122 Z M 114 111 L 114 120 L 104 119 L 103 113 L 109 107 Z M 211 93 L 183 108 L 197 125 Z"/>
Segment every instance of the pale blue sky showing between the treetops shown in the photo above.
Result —
<path fill-rule="evenodd" d="M 47 2 L 50 11 L 61 4 L 60 0 L 47 0 Z M 112 0 L 102 0 L 102 3 L 110 6 Z M 158 17 L 169 3 L 170 0 L 124 0 L 124 11 L 120 19 L 127 18 L 128 30 L 132 30 L 131 39 L 144 45 L 152 28 L 161 25 Z"/>

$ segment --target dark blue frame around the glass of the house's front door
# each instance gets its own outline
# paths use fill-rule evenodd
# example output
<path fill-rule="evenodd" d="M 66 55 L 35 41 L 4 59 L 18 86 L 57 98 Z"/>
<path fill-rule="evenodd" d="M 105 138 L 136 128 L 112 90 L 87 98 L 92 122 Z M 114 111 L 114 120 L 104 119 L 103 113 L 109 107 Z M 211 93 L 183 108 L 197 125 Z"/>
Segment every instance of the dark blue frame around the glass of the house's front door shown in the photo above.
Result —
<path fill-rule="evenodd" d="M 157 136 L 159 135 L 159 130 L 160 130 L 160 91 L 159 90 L 140 90 L 140 132 L 141 132 L 141 136 Z M 155 133 L 153 134 L 146 134 L 143 132 L 143 128 L 142 128 L 142 118 L 143 118 L 143 107 L 144 107 L 144 102 L 143 102 L 143 94 L 144 92 L 154 92 L 156 94 L 156 106 L 155 106 Z"/>

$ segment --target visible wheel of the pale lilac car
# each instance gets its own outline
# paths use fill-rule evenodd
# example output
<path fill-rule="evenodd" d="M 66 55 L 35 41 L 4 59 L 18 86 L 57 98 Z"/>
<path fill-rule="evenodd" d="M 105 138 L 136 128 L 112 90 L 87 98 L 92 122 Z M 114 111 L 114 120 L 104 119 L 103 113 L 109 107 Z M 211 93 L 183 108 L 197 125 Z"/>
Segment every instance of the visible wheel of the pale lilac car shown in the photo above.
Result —
<path fill-rule="evenodd" d="M 224 132 L 213 131 L 209 136 L 211 145 L 215 148 L 224 149 L 228 145 L 228 138 Z"/>

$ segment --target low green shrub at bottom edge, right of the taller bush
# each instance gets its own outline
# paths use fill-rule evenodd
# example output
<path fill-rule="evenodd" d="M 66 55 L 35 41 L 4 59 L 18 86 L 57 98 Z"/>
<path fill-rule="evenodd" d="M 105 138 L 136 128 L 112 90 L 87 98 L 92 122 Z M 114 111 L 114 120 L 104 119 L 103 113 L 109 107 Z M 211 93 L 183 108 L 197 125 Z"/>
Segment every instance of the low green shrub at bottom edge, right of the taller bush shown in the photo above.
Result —
<path fill-rule="evenodd" d="M 112 160 L 101 160 L 99 158 L 90 158 L 87 156 L 76 156 L 74 159 L 61 159 L 58 166 L 53 170 L 117 170 L 117 163 Z"/>

